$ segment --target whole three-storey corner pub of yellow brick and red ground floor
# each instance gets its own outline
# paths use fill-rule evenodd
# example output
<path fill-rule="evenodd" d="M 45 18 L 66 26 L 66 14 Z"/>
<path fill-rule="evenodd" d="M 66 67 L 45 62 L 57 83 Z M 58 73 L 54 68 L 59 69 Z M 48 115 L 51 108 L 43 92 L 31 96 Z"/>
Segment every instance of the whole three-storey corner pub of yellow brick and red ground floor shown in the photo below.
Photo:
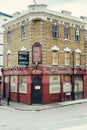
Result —
<path fill-rule="evenodd" d="M 2 98 L 49 104 L 87 98 L 82 18 L 30 5 L 3 25 Z"/>

